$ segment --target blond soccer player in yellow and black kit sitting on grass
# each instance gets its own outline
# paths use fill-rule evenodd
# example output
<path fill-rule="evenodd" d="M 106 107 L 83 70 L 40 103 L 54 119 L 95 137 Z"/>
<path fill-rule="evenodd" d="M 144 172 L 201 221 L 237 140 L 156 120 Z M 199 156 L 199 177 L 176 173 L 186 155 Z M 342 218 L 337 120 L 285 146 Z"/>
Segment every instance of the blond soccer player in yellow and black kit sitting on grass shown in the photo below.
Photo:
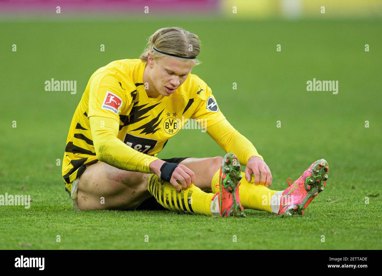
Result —
<path fill-rule="evenodd" d="M 324 159 L 284 191 L 269 189 L 272 175 L 262 156 L 228 123 L 211 88 L 191 74 L 199 53 L 197 35 L 163 28 L 151 35 L 139 59 L 113 61 L 90 77 L 63 159 L 75 210 L 133 210 L 155 199 L 176 212 L 242 217 L 248 208 L 290 215 L 303 213 L 324 189 Z M 229 153 L 158 159 L 189 118 Z"/>

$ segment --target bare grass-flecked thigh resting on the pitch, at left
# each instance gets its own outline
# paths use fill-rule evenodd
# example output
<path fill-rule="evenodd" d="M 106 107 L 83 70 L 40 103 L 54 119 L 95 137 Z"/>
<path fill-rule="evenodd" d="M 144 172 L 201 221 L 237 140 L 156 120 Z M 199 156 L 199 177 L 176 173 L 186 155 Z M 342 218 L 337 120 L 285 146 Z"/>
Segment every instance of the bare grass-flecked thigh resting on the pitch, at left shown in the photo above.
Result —
<path fill-rule="evenodd" d="M 98 162 L 86 168 L 78 181 L 77 203 L 85 209 L 134 209 L 150 197 L 149 174 L 128 172 Z"/>

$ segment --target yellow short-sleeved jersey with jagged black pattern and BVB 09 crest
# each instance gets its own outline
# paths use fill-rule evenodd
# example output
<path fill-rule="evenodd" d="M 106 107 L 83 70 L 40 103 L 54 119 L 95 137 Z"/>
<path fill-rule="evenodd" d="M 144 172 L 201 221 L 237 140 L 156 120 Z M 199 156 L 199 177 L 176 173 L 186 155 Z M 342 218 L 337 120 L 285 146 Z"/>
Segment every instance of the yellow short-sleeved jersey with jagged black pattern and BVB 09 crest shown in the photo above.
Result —
<path fill-rule="evenodd" d="M 117 138 L 149 156 L 160 152 L 190 118 L 199 120 L 204 128 L 225 120 L 211 89 L 195 74 L 189 74 L 171 96 L 149 98 L 143 83 L 145 66 L 140 59 L 117 60 L 90 77 L 66 140 L 62 175 L 68 192 L 70 183 L 87 165 L 99 162 L 92 141 L 91 116 L 117 120 Z"/>

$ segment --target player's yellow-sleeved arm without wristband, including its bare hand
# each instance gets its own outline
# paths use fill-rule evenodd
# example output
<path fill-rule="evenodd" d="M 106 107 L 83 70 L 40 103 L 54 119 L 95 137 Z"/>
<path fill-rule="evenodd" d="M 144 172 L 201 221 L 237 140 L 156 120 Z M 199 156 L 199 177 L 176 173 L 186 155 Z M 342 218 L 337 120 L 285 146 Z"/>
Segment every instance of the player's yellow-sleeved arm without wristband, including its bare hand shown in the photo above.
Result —
<path fill-rule="evenodd" d="M 270 186 L 272 174 L 268 165 L 265 164 L 253 144 L 232 127 L 227 119 L 223 119 L 210 127 L 207 124 L 207 133 L 225 152 L 234 152 L 239 160 L 243 162 L 243 165 L 246 165 L 244 173 L 248 182 L 251 181 L 252 174 L 254 174 L 255 185 L 260 183 L 266 187 Z"/>

